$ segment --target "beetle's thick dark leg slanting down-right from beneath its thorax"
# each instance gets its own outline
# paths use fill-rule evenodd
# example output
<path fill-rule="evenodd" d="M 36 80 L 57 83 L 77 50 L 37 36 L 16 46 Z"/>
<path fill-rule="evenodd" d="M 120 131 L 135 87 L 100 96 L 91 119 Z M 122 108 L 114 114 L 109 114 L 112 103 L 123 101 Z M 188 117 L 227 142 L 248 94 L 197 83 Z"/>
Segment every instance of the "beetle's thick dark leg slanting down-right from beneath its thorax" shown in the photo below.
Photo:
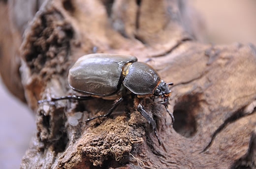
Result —
<path fill-rule="evenodd" d="M 153 127 L 153 130 L 155 132 L 155 135 L 158 139 L 158 143 L 159 145 L 161 145 L 161 142 L 160 142 L 160 139 L 158 137 L 158 133 L 157 133 L 157 124 L 156 124 L 156 121 L 154 121 L 154 119 L 152 119 L 149 114 L 145 111 L 144 107 L 141 105 L 141 103 L 138 101 L 138 98 L 134 98 L 134 104 L 136 106 L 136 109 L 138 112 L 140 112 L 140 114 L 149 122 L 149 124 L 152 125 Z"/>

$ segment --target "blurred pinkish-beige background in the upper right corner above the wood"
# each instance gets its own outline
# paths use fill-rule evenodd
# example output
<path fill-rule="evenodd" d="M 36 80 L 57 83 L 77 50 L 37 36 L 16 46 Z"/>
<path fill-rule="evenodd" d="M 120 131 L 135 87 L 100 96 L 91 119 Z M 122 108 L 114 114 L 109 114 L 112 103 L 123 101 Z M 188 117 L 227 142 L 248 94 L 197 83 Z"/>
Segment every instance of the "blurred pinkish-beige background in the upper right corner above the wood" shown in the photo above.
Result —
<path fill-rule="evenodd" d="M 188 0 L 214 44 L 256 44 L 256 0 Z"/>

